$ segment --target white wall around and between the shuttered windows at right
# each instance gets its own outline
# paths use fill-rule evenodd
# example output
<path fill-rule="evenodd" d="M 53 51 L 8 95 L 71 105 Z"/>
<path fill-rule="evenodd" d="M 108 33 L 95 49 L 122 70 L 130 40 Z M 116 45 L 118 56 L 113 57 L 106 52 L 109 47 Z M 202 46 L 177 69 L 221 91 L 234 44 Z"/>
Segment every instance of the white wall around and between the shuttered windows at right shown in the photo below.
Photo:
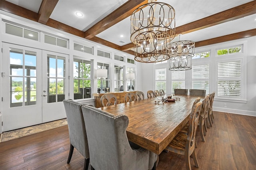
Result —
<path fill-rule="evenodd" d="M 247 71 L 247 82 L 246 82 L 246 99 L 245 101 L 218 101 L 218 99 L 214 100 L 213 103 L 213 110 L 214 111 L 223 111 L 223 112 L 228 112 L 228 113 L 237 113 L 237 114 L 242 114 L 242 115 L 252 115 L 256 116 L 256 36 L 254 37 L 249 37 L 249 38 L 243 38 L 239 40 L 234 40 L 230 42 L 224 42 L 224 43 L 218 43 L 218 44 L 213 44 L 213 45 L 208 45 L 205 47 L 200 47 L 200 49 L 196 48 L 196 51 L 204 51 L 204 49 L 207 51 L 209 49 L 215 49 L 216 46 L 221 47 L 224 45 L 225 47 L 228 46 L 229 44 L 240 44 L 241 42 L 245 42 L 247 47 L 245 47 L 244 51 L 246 53 L 246 71 Z M 194 59 L 193 59 L 194 60 Z M 192 64 L 193 64 L 192 60 Z M 215 64 L 213 64 L 215 65 Z M 143 83 L 141 87 L 141 91 L 146 94 L 148 90 L 155 90 L 154 88 L 154 64 L 150 63 L 141 63 L 138 65 L 140 69 L 142 70 L 142 78 L 143 78 Z M 166 64 L 167 70 L 168 70 L 168 64 Z M 212 71 L 215 71 L 215 68 L 211 68 Z M 170 72 L 168 70 L 168 72 Z M 210 73 L 210 75 L 212 75 Z M 167 93 L 171 93 L 171 87 L 170 87 L 170 81 L 171 78 L 167 74 Z M 215 91 L 215 77 L 210 77 L 211 85 L 210 85 L 210 93 Z M 190 89 L 190 88 L 188 88 Z M 224 107 L 224 103 L 226 103 L 227 107 Z"/>

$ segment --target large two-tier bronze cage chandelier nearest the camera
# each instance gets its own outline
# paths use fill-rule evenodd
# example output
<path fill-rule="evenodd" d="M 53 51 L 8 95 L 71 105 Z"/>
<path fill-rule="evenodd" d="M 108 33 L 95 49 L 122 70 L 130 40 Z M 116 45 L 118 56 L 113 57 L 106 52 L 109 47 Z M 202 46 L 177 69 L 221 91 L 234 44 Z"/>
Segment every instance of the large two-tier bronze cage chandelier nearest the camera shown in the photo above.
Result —
<path fill-rule="evenodd" d="M 170 59 L 171 40 L 175 37 L 175 11 L 172 6 L 156 0 L 138 7 L 131 15 L 131 42 L 134 59 L 154 63 Z"/>

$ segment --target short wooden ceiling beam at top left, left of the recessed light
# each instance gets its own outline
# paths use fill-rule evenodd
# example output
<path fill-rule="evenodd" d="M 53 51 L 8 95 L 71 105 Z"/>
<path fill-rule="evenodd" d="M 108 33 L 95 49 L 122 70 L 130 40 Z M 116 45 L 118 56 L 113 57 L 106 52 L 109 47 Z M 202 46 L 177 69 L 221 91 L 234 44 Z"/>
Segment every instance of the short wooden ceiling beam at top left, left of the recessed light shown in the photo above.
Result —
<path fill-rule="evenodd" d="M 43 0 L 38 12 L 38 22 L 46 24 L 59 0 Z"/>

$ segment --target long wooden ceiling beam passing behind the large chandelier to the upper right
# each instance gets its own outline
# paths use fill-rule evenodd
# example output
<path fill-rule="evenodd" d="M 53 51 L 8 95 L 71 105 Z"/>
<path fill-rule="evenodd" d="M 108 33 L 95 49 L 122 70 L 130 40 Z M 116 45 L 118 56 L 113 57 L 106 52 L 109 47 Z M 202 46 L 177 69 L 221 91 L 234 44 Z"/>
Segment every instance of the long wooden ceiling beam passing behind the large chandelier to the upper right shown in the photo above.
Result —
<path fill-rule="evenodd" d="M 187 34 L 190 32 L 202 30 L 210 26 L 222 24 L 224 22 L 232 21 L 238 18 L 242 18 L 244 16 L 252 15 L 252 14 L 256 14 L 256 0 L 248 2 L 246 4 L 242 4 L 240 6 L 236 6 L 234 8 L 230 8 L 228 10 L 219 12 L 217 14 L 208 16 L 206 18 L 202 18 L 200 20 L 196 20 L 194 22 L 190 22 L 188 24 L 184 24 L 182 26 L 176 27 L 175 34 L 176 35 Z M 134 44 L 129 43 L 129 44 L 123 45 L 121 47 L 121 51 L 126 51 L 133 48 L 134 48 Z"/>

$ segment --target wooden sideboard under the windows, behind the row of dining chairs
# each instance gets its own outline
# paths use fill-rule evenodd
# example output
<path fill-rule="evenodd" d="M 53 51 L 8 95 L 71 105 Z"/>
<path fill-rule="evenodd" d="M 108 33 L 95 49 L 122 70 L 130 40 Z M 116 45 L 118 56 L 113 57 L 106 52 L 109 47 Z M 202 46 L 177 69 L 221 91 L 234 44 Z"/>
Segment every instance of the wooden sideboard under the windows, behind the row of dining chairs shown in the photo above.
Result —
<path fill-rule="evenodd" d="M 119 92 L 109 92 L 109 93 L 93 93 L 93 96 L 95 98 L 95 107 L 103 107 L 101 102 L 100 102 L 100 98 L 102 97 L 102 95 L 104 94 L 114 94 L 116 96 L 117 99 L 117 104 L 120 103 L 125 103 L 125 99 L 124 96 L 126 95 L 126 93 L 136 93 L 137 91 L 119 91 Z"/>

